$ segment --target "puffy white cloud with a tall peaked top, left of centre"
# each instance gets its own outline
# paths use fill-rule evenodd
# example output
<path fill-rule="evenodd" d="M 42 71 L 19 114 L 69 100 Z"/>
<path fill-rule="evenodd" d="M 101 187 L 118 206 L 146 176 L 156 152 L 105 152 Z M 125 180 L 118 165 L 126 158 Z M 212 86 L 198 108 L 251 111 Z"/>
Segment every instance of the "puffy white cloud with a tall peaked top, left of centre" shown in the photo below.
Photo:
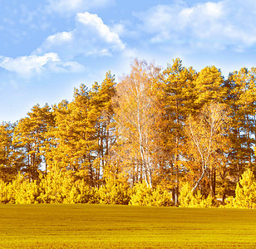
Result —
<path fill-rule="evenodd" d="M 57 52 L 66 59 L 76 56 L 108 55 L 113 51 L 123 51 L 125 44 L 116 32 L 96 14 L 89 12 L 76 14 L 76 28 L 71 32 L 60 32 L 43 42 L 35 54 Z"/>

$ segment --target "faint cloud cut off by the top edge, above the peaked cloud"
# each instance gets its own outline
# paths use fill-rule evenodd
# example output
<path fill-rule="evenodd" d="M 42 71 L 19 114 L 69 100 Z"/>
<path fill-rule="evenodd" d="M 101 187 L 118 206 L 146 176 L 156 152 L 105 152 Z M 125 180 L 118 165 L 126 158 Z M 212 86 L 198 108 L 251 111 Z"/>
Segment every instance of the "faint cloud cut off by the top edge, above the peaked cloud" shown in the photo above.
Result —
<path fill-rule="evenodd" d="M 47 0 L 47 11 L 59 14 L 76 14 L 95 7 L 105 7 L 112 0 Z"/>

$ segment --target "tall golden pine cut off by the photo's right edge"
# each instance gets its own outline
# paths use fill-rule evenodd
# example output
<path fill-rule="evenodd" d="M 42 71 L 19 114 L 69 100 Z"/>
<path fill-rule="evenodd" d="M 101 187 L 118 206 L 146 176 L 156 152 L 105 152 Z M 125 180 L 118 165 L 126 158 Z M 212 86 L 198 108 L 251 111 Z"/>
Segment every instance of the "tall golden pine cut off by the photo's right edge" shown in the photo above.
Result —
<path fill-rule="evenodd" d="M 255 72 L 252 68 L 242 68 L 229 74 L 225 81 L 229 88 L 227 104 L 230 106 L 230 139 L 232 149 L 229 153 L 230 170 L 235 184 L 246 168 L 255 167 L 255 113 L 256 113 L 256 88 Z"/>

